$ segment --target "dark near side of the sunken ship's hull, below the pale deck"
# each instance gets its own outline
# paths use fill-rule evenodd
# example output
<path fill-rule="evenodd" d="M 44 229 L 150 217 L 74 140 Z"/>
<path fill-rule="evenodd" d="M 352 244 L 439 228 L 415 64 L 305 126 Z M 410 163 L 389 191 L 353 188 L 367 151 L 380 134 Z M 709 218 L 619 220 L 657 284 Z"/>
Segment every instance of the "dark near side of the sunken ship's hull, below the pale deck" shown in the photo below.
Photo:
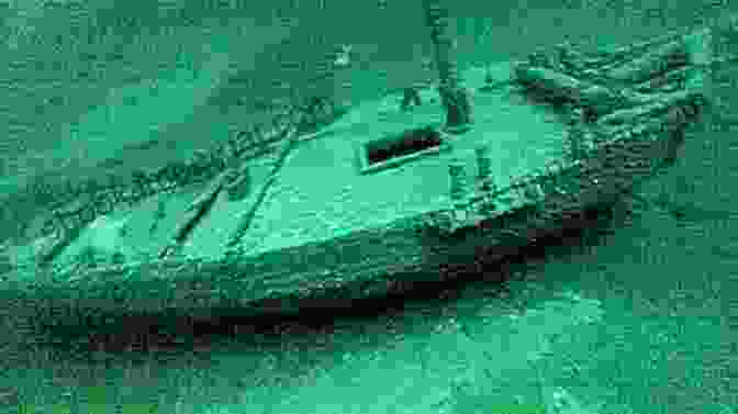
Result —
<path fill-rule="evenodd" d="M 458 277 L 476 262 L 516 254 L 547 234 L 590 226 L 589 209 L 616 202 L 673 160 L 682 143 L 682 130 L 613 139 L 568 167 L 574 180 L 563 182 L 560 172 L 547 186 L 548 179 L 540 178 L 548 193 L 537 203 L 496 216 L 470 214 L 451 227 L 437 223 L 454 211 L 435 212 L 253 257 L 165 259 L 77 277 L 35 269 L 3 284 L 23 292 L 42 312 L 58 316 L 59 310 L 74 310 L 75 318 L 149 313 L 209 317 L 219 312 L 347 306 L 399 287 Z"/>

